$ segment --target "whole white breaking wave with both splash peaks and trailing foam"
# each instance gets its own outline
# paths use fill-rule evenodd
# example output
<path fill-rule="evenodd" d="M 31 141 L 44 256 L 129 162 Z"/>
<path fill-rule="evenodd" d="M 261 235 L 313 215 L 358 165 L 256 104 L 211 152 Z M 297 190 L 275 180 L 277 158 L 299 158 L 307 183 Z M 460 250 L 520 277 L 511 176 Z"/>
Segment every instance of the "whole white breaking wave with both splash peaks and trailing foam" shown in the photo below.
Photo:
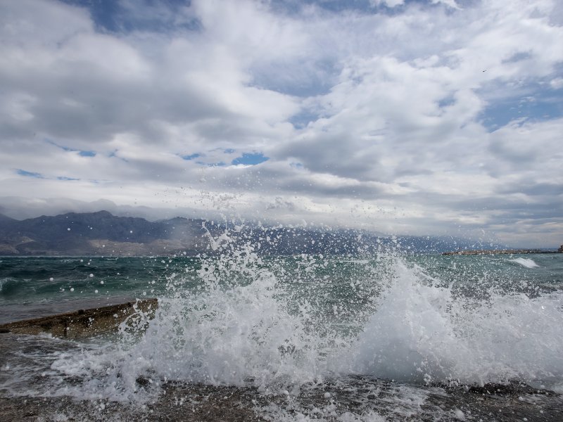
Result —
<path fill-rule="evenodd" d="M 203 260 L 191 274 L 170 276 L 170 296 L 151 321 L 137 314 L 133 328 L 122 324 L 118 343 L 66 354 L 52 368 L 84 379 L 80 397 L 124 400 L 146 390 L 139 379 L 155 388 L 180 381 L 261 392 L 349 375 L 418 384 L 563 379 L 560 292 L 460 297 L 393 256 L 366 260 L 367 279 L 298 284 L 311 268 L 330 267 L 308 262 L 317 267 L 287 271 L 251 251 Z"/>

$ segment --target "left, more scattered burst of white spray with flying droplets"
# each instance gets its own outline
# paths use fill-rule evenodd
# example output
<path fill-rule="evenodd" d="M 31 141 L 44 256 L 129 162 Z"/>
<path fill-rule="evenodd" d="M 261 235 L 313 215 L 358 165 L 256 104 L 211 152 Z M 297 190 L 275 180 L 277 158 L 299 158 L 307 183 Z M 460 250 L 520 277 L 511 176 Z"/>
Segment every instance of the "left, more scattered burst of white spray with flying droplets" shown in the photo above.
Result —
<path fill-rule="evenodd" d="M 137 371 L 134 378 L 152 371 L 170 381 L 254 385 L 265 392 L 322 381 L 323 355 L 343 342 L 334 331 L 327 336 L 327 329 L 315 329 L 311 322 L 318 317 L 308 298 L 287 290 L 286 277 L 293 280 L 299 271 L 289 273 L 278 260 L 266 266 L 246 245 L 220 259 L 202 258 L 188 272 L 169 277 L 172 297 L 160 300 L 129 351 L 129 362 L 151 363 L 128 368 Z M 184 288 L 194 280 L 195 294 Z"/>

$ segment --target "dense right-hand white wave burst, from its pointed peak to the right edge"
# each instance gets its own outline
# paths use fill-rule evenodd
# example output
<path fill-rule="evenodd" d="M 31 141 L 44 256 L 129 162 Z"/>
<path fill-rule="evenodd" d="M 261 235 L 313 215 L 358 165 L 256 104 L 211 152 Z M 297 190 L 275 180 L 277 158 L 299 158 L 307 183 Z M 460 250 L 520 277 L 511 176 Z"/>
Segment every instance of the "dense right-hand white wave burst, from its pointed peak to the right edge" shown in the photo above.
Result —
<path fill-rule="evenodd" d="M 453 295 L 397 261 L 396 279 L 353 346 L 349 371 L 410 383 L 555 385 L 563 377 L 560 292 Z M 426 281 L 426 283 L 424 283 Z"/>

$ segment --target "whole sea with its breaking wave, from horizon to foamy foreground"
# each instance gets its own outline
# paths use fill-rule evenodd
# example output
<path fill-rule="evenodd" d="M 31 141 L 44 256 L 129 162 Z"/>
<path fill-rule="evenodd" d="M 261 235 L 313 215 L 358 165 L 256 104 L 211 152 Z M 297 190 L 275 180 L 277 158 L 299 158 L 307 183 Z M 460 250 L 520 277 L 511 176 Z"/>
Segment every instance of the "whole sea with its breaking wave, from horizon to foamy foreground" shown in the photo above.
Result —
<path fill-rule="evenodd" d="M 0 257 L 0 323 L 144 298 L 96 338 L 0 333 L 0 418 L 563 421 L 563 254 Z"/>

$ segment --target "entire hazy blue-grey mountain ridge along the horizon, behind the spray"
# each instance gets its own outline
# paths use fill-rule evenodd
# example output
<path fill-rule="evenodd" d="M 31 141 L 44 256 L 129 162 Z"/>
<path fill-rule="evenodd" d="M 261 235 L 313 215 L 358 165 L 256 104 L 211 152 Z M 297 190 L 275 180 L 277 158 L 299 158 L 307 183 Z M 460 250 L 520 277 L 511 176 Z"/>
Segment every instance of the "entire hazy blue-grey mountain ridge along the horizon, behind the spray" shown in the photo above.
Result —
<path fill-rule="evenodd" d="M 204 226 L 205 224 L 205 226 Z M 227 238 L 221 235 L 227 233 Z M 418 236 L 379 236 L 350 229 L 320 230 L 303 227 L 205 222 L 175 217 L 149 222 L 140 217 L 118 217 L 108 211 L 70 212 L 54 217 L 16 220 L 0 215 L 0 255 L 196 255 L 220 253 L 221 245 L 251 245 L 262 255 L 296 253 L 356 254 L 381 245 L 402 245 L 405 250 L 444 252 L 475 248 L 469 241 Z M 218 249 L 217 249 L 218 247 Z"/>

